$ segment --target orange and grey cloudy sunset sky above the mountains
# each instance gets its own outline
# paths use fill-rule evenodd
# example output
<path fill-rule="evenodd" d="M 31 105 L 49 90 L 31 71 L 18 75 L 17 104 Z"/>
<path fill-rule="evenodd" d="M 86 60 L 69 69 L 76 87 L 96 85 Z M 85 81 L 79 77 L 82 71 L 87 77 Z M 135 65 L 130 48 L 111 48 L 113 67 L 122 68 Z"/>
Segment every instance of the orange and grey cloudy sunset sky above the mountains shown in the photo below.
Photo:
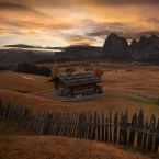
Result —
<path fill-rule="evenodd" d="M 159 36 L 159 0 L 0 1 L 0 47 L 102 46 L 112 32 L 128 42 Z"/>

